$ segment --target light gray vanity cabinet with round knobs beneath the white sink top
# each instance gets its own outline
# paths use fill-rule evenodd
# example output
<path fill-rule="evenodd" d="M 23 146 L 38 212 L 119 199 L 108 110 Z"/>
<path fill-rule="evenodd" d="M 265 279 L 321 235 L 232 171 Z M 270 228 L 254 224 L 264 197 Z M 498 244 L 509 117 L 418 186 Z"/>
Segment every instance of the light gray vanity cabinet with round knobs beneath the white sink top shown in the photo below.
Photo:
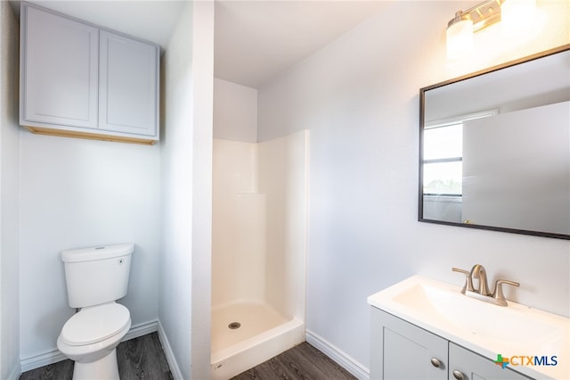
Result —
<path fill-rule="evenodd" d="M 371 379 L 528 380 L 460 345 L 371 308 Z"/>

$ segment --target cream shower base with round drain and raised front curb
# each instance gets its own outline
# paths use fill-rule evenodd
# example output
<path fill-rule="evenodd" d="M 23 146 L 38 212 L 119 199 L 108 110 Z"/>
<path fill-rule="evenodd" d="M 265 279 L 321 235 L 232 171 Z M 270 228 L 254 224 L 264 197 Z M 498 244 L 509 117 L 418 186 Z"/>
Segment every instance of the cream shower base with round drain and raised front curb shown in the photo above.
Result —
<path fill-rule="evenodd" d="M 285 318 L 266 303 L 242 301 L 215 307 L 212 378 L 236 376 L 304 341 L 303 321 Z"/>

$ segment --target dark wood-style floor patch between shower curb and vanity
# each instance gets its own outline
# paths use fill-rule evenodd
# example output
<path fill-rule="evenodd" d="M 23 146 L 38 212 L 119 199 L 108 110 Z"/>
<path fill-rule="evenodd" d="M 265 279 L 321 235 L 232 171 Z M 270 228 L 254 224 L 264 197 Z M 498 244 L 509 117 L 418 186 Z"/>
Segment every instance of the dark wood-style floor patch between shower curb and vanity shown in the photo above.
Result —
<path fill-rule="evenodd" d="M 232 380 L 354 380 L 355 378 L 345 368 L 305 342 L 257 367 L 248 369 Z"/>

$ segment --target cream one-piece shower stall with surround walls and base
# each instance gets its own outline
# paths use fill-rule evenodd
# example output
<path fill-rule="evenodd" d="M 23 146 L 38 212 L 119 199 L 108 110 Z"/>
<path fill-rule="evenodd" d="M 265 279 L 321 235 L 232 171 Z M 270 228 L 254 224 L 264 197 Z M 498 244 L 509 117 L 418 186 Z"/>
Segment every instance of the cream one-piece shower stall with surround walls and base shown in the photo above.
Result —
<path fill-rule="evenodd" d="M 212 377 L 305 341 L 308 131 L 214 140 Z"/>

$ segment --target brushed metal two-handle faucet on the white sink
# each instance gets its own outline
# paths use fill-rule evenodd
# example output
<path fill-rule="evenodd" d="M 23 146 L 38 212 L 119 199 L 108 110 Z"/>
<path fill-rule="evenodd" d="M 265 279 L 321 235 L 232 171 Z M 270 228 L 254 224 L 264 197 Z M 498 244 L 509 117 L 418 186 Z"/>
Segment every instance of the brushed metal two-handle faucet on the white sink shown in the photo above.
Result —
<path fill-rule="evenodd" d="M 477 300 L 491 302 L 499 306 L 508 305 L 507 300 L 505 299 L 505 295 L 502 293 L 502 285 L 520 285 L 514 281 L 502 279 L 497 280 L 495 282 L 493 293 L 491 293 L 489 292 L 489 285 L 487 285 L 487 271 L 483 265 L 476 264 L 473 266 L 473 268 L 471 268 L 471 271 L 460 268 L 452 268 L 452 270 L 454 272 L 460 272 L 465 275 L 465 285 L 463 285 L 463 289 L 461 289 L 462 294 L 476 298 Z M 474 278 L 477 279 L 477 288 L 473 286 Z"/>

